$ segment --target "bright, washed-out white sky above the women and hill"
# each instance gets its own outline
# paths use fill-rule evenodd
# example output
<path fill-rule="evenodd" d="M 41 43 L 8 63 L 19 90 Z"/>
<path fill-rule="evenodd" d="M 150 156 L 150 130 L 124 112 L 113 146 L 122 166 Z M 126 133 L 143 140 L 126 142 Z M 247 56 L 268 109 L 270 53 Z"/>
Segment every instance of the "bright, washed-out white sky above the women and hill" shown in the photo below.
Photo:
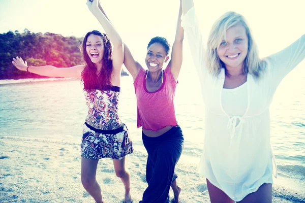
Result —
<path fill-rule="evenodd" d="M 212 23 L 226 11 L 235 11 L 249 21 L 260 56 L 280 51 L 305 33 L 304 0 L 195 0 L 201 29 L 207 36 Z M 132 52 L 142 53 L 149 40 L 162 36 L 172 44 L 179 0 L 101 0 L 102 7 Z M 86 0 L 0 0 L 0 33 L 60 33 L 83 37 L 104 31 L 89 12 Z M 188 51 L 188 46 L 184 47 Z M 137 55 L 137 54 L 136 54 Z M 143 59 L 144 60 L 144 59 Z"/>

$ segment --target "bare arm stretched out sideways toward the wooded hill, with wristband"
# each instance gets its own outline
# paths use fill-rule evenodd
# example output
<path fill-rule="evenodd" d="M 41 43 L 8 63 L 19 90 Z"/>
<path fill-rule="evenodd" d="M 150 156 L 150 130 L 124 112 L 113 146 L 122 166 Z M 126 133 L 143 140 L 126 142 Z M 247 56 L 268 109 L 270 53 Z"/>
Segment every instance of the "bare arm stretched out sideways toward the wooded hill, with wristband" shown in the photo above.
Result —
<path fill-rule="evenodd" d="M 12 63 L 20 71 L 28 71 L 41 76 L 47 77 L 67 77 L 67 78 L 80 78 L 81 72 L 84 70 L 84 65 L 76 65 L 73 67 L 55 67 L 52 65 L 44 66 L 28 66 L 26 61 L 20 57 L 13 58 Z"/>

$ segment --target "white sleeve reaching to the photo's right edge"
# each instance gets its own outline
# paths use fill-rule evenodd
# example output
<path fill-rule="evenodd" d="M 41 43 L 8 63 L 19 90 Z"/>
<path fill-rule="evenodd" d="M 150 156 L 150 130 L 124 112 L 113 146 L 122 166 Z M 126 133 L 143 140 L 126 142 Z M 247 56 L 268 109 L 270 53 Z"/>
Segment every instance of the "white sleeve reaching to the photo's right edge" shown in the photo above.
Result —
<path fill-rule="evenodd" d="M 270 84 L 277 88 L 283 78 L 305 58 L 305 35 L 294 43 L 266 58 L 270 62 Z"/>

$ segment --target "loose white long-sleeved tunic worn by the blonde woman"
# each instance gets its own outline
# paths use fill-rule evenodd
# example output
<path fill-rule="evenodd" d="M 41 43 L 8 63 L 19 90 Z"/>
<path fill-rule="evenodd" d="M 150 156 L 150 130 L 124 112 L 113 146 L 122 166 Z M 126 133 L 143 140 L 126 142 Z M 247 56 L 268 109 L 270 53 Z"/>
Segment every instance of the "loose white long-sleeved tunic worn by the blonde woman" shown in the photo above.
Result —
<path fill-rule="evenodd" d="M 183 3 L 189 2 L 192 1 Z M 269 106 L 282 79 L 304 59 L 305 35 L 267 57 L 261 78 L 248 74 L 246 112 L 242 116 L 229 116 L 221 100 L 225 72 L 222 69 L 217 77 L 207 72 L 205 47 L 194 8 L 185 14 L 181 25 L 190 44 L 205 104 L 205 137 L 198 172 L 230 198 L 240 201 L 262 184 L 273 183 L 272 160 L 275 159 L 270 146 Z"/>

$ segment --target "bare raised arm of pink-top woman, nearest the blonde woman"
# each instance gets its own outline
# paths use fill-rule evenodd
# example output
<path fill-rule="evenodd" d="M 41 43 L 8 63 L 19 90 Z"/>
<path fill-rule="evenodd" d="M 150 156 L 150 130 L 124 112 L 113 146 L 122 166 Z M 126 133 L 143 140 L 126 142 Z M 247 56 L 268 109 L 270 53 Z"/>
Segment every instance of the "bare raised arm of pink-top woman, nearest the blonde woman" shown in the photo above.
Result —
<path fill-rule="evenodd" d="M 182 15 L 181 1 L 182 0 L 180 0 L 179 14 L 177 19 L 176 36 L 172 48 L 171 60 L 169 61 L 169 66 L 175 80 L 178 79 L 178 75 L 182 65 L 182 44 L 184 39 L 184 29 L 181 27 L 181 15 Z"/>

